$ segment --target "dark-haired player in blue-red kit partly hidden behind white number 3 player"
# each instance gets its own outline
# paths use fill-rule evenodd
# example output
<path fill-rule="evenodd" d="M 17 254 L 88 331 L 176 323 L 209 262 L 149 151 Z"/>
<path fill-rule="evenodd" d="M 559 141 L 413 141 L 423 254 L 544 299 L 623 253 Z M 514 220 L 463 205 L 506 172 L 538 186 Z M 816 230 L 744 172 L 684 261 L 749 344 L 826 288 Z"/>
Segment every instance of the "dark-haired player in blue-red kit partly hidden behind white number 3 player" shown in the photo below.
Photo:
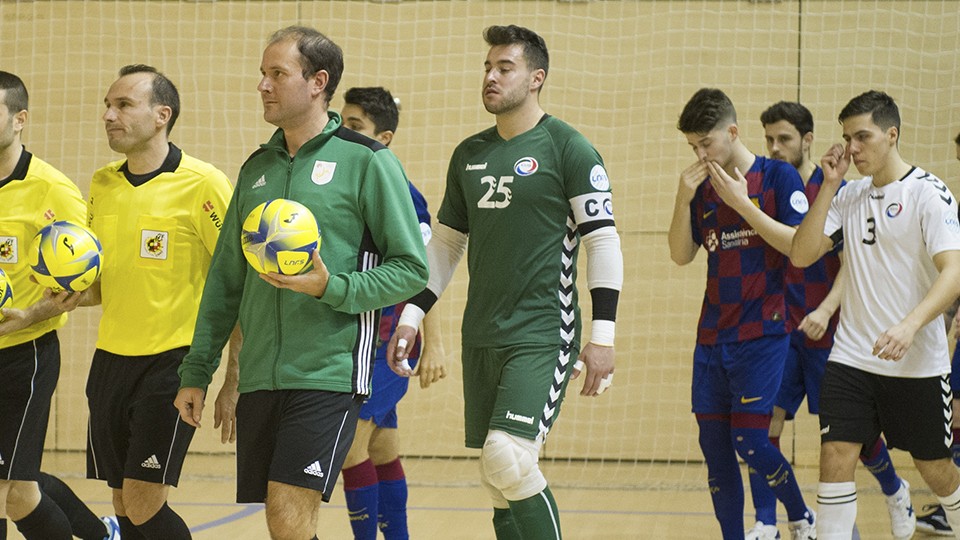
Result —
<path fill-rule="evenodd" d="M 781 101 L 760 115 L 770 157 L 793 165 L 804 182 L 807 200 L 813 203 L 823 183 L 823 170 L 810 159 L 813 144 L 813 115 L 800 103 Z M 793 419 L 804 396 L 810 414 L 820 413 L 820 381 L 833 346 L 837 329 L 842 282 L 840 272 L 842 244 L 807 268 L 788 265 L 787 312 L 794 331 L 783 370 L 783 382 L 770 421 L 770 442 L 780 448 L 785 420 Z M 836 284 L 836 285 L 835 285 Z M 882 438 L 864 447 L 860 461 L 880 482 L 887 497 L 887 509 L 894 537 L 912 534 L 914 514 L 909 484 L 896 473 Z M 747 531 L 746 540 L 778 538 L 777 500 L 755 471 L 750 471 L 750 488 L 757 510 L 757 523 Z"/>

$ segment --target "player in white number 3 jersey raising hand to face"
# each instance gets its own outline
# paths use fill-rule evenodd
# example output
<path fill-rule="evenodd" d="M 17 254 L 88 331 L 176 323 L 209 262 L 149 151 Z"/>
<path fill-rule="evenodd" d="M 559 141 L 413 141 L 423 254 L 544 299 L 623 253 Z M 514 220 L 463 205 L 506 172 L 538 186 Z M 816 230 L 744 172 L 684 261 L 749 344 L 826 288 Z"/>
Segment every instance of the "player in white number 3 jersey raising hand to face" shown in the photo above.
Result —
<path fill-rule="evenodd" d="M 950 460 L 940 314 L 960 295 L 957 202 L 939 178 L 900 157 L 900 113 L 890 96 L 855 97 L 840 123 L 846 146 L 823 157 L 821 196 L 790 251 L 804 267 L 842 240 L 849 270 L 820 395 L 817 531 L 820 540 L 851 538 L 857 457 L 880 433 L 890 448 L 910 452 L 956 530 L 960 471 Z M 837 193 L 851 161 L 865 178 Z"/>

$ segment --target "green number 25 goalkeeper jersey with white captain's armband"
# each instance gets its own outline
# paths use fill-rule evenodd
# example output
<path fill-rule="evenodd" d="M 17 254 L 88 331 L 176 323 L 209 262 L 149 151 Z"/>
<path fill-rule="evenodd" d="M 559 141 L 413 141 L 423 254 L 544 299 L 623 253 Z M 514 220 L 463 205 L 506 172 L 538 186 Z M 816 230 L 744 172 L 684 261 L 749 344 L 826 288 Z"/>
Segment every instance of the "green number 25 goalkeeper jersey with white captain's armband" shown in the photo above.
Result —
<path fill-rule="evenodd" d="M 463 345 L 579 347 L 579 237 L 613 224 L 610 201 L 600 154 L 555 117 L 460 143 L 437 218 L 469 235 Z"/>

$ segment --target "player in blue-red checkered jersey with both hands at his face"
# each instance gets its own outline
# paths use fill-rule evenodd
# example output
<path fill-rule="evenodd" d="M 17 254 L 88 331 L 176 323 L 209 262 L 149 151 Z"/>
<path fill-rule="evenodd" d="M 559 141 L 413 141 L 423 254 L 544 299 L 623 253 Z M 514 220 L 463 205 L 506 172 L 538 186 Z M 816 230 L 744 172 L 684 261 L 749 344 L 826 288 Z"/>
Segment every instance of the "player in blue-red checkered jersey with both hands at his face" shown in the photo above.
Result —
<path fill-rule="evenodd" d="M 808 208 L 803 182 L 746 148 L 720 90 L 697 91 L 677 128 L 697 162 L 680 175 L 668 239 L 677 264 L 707 251 L 692 401 L 714 513 L 725 540 L 744 538 L 739 454 L 783 502 L 793 538 L 816 538 L 793 469 L 767 436 L 789 347 L 785 254 Z"/>

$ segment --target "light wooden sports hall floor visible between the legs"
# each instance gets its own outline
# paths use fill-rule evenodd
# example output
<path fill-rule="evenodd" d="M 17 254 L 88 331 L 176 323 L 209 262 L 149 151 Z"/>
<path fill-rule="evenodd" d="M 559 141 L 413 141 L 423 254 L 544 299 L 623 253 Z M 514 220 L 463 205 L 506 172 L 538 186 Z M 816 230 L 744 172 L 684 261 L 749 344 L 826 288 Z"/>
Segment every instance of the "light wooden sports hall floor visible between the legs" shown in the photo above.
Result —
<path fill-rule="evenodd" d="M 44 457 L 44 470 L 63 478 L 98 515 L 112 513 L 106 485 L 86 480 L 83 453 L 51 452 Z M 622 475 L 623 470 L 609 465 L 543 464 L 551 479 L 561 508 L 564 538 L 578 539 L 711 539 L 719 538 L 710 498 L 705 489 L 706 470 L 696 465 L 649 465 L 636 485 L 643 488 L 577 489 L 563 482 L 567 467 L 576 467 L 580 476 L 584 467 L 598 478 Z M 491 511 L 486 495 L 474 481 L 476 463 L 435 459 L 404 461 L 410 483 L 409 523 L 414 539 L 480 540 L 492 539 Z M 901 473 L 913 486 L 914 507 L 918 510 L 933 500 L 915 470 Z M 815 501 L 817 471 L 798 468 L 797 475 L 808 504 Z M 683 480 L 677 481 L 678 478 Z M 454 480 L 451 480 L 454 479 Z M 621 478 L 622 480 L 622 478 Z M 702 482 L 701 482 L 702 481 Z M 858 471 L 860 486 L 858 526 L 862 538 L 890 538 L 883 497 L 865 471 Z M 622 482 L 621 482 L 622 485 Z M 749 493 L 747 493 L 749 500 Z M 234 504 L 234 458 L 231 455 L 190 455 L 180 487 L 172 491 L 172 506 L 186 519 L 197 540 L 261 540 L 267 529 L 260 505 Z M 782 507 L 780 508 L 782 513 Z M 781 515 L 781 533 L 786 525 Z M 747 520 L 752 525 L 753 520 Z M 12 529 L 12 527 L 11 527 Z M 12 540 L 22 537 L 12 530 Z M 350 539 L 340 485 L 329 505 L 320 510 L 318 537 Z M 924 538 L 917 534 L 916 538 Z M 933 538 L 933 537 L 930 537 Z"/>

